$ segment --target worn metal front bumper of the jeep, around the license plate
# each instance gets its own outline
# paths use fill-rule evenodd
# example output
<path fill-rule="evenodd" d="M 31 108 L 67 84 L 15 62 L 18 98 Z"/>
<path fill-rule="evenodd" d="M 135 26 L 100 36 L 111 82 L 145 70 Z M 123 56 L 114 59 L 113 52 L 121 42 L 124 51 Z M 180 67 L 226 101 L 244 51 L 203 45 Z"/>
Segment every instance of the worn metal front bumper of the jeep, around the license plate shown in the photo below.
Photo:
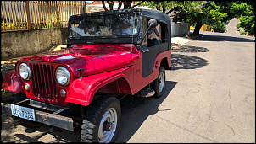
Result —
<path fill-rule="evenodd" d="M 37 105 L 39 105 L 40 103 L 40 102 L 33 101 L 31 99 L 25 99 L 19 103 L 16 103 L 15 105 L 31 108 L 30 106 L 31 102 Z M 42 106 L 42 103 L 40 104 Z M 11 104 L 1 103 L 1 106 L 2 106 L 2 114 L 12 115 Z M 43 106 L 44 107 L 50 106 L 51 109 L 54 108 L 53 104 L 44 104 Z M 69 130 L 69 131 L 74 131 L 74 125 L 73 125 L 74 121 L 69 117 L 58 115 L 59 113 L 62 113 L 64 110 L 67 110 L 67 109 L 69 109 L 69 107 L 63 107 L 60 109 L 58 107 L 58 110 L 56 109 L 55 111 L 53 111 L 53 113 L 48 113 L 48 112 L 36 110 L 35 108 L 34 110 L 35 110 L 36 122 L 46 124 L 46 125 L 52 125 L 58 128 Z"/>

